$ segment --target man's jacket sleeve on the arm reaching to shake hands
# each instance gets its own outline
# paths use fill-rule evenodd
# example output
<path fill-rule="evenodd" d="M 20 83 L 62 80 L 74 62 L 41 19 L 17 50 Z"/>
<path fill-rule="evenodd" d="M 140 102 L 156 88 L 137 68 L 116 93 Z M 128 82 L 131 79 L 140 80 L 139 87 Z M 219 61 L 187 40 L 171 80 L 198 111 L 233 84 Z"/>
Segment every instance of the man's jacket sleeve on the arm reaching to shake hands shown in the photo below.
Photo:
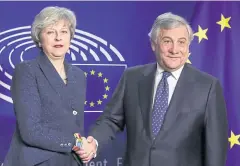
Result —
<path fill-rule="evenodd" d="M 110 102 L 106 105 L 103 113 L 92 126 L 89 135 L 93 136 L 98 143 L 97 153 L 101 152 L 104 144 L 113 140 L 117 132 L 123 131 L 125 127 L 124 115 L 124 91 L 126 76 L 121 77 Z"/>

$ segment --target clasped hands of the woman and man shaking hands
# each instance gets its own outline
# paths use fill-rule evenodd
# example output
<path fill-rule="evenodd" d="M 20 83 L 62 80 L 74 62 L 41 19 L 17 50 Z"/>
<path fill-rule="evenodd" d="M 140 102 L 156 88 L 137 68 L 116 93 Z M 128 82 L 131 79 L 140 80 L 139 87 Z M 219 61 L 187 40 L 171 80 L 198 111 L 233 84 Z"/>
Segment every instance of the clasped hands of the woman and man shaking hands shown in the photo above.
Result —
<path fill-rule="evenodd" d="M 72 150 L 75 153 L 74 157 L 76 160 L 81 160 L 83 163 L 88 163 L 90 160 L 96 157 L 97 152 L 97 141 L 92 137 L 88 136 L 81 137 L 79 133 L 75 133 L 76 144 Z"/>

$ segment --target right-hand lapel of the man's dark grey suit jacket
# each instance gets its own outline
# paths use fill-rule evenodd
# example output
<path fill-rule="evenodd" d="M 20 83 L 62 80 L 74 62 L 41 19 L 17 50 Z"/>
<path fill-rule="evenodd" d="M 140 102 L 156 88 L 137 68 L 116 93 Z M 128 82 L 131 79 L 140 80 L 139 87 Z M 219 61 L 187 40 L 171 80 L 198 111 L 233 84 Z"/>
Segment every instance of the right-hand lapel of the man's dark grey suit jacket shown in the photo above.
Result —
<path fill-rule="evenodd" d="M 167 132 L 175 123 L 180 111 L 183 109 L 190 109 L 189 107 L 186 107 L 186 102 L 188 102 L 186 100 L 188 99 L 189 94 L 192 92 L 192 88 L 194 86 L 193 82 L 194 76 L 191 73 L 190 67 L 188 64 L 186 64 L 175 87 L 168 111 L 166 113 L 164 124 L 159 131 L 158 137 L 159 135 L 166 134 L 165 132 Z"/>

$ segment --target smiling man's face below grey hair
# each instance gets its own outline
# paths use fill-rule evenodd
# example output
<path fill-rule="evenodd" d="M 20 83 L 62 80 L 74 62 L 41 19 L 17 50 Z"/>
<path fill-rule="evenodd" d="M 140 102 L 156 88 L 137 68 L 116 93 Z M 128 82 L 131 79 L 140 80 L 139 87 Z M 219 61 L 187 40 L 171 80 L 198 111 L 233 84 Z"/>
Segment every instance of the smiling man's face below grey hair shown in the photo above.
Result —
<path fill-rule="evenodd" d="M 168 71 L 182 67 L 188 59 L 189 34 L 186 26 L 162 29 L 155 42 L 152 42 L 159 65 Z"/>

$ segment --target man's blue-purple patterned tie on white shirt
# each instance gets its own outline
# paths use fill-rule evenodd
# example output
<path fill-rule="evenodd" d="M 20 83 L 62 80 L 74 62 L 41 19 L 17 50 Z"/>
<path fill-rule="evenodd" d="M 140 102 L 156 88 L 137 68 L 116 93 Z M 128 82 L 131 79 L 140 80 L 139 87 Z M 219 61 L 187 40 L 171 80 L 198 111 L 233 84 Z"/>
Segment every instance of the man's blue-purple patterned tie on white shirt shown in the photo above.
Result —
<path fill-rule="evenodd" d="M 152 114 L 152 132 L 154 138 L 157 136 L 164 120 L 168 108 L 169 87 L 167 78 L 171 73 L 164 71 L 161 81 L 158 84 L 155 94 L 153 114 Z"/>

